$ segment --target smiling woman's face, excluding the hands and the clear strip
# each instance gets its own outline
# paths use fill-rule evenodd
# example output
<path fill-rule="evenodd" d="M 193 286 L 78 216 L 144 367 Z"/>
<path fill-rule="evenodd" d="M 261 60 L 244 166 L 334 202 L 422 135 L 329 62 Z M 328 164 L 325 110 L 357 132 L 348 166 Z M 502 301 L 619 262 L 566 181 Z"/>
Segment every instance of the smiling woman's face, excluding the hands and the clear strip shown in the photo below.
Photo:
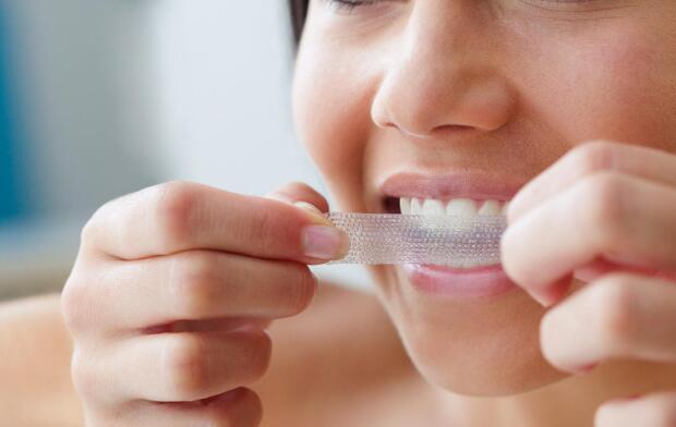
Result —
<path fill-rule="evenodd" d="M 499 208 L 590 139 L 676 151 L 675 19 L 673 0 L 313 0 L 297 127 L 342 210 Z M 431 382 L 494 395 L 560 378 L 544 309 L 502 272 L 421 269 L 373 273 Z"/>

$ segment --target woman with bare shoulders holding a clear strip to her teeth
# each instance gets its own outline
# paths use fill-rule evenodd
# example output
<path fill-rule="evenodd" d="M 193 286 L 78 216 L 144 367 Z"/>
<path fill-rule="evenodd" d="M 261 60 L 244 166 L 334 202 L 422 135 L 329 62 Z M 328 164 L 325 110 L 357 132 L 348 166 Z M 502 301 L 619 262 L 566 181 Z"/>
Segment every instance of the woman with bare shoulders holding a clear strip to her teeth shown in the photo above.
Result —
<path fill-rule="evenodd" d="M 316 286 L 348 242 L 305 185 L 111 202 L 62 295 L 88 425 L 676 425 L 676 3 L 291 9 L 339 208 L 504 209 L 503 266 L 370 268 L 384 315 Z"/>

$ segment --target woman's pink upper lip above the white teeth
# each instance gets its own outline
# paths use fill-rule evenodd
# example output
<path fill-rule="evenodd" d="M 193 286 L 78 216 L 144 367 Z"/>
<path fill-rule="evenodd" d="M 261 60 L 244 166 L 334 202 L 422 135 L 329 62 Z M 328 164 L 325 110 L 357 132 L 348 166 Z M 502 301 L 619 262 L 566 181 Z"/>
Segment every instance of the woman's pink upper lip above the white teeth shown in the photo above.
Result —
<path fill-rule="evenodd" d="M 456 171 L 447 174 L 400 172 L 379 185 L 384 197 L 422 197 L 494 199 L 507 202 L 523 186 L 526 180 L 483 171 Z"/>

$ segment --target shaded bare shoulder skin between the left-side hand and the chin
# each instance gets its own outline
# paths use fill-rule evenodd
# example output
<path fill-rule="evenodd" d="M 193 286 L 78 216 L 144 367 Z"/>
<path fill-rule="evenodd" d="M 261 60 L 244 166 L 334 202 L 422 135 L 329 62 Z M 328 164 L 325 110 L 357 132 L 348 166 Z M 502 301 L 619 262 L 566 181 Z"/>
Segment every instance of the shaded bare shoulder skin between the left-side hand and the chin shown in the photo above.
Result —
<path fill-rule="evenodd" d="M 269 330 L 273 361 L 254 387 L 264 403 L 265 426 L 316 425 L 336 419 L 340 402 L 360 391 L 389 387 L 410 376 L 411 363 L 377 298 L 322 283 L 300 316 Z"/>

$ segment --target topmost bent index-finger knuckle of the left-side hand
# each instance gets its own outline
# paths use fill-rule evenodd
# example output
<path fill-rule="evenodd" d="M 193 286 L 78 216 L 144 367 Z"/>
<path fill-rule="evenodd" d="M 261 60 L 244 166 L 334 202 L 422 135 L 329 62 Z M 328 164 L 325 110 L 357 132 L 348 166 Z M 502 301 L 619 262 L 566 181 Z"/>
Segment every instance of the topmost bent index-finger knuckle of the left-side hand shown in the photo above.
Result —
<path fill-rule="evenodd" d="M 196 184 L 172 181 L 154 187 L 155 222 L 167 245 L 180 242 L 190 233 Z"/>

